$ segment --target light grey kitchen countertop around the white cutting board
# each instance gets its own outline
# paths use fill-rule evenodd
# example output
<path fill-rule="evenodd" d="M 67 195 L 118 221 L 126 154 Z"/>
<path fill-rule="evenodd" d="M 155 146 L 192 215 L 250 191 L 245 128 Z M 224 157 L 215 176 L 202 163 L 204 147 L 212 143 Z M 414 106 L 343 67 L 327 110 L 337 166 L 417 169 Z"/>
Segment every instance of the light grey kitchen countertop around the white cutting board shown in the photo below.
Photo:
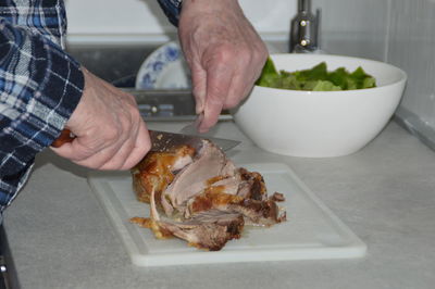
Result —
<path fill-rule="evenodd" d="M 185 124 L 150 123 L 177 131 Z M 22 288 L 434 288 L 435 153 L 396 123 L 361 151 L 304 159 L 243 140 L 236 163 L 283 162 L 366 244 L 362 259 L 136 267 L 89 189 L 88 169 L 38 155 L 4 227 Z"/>

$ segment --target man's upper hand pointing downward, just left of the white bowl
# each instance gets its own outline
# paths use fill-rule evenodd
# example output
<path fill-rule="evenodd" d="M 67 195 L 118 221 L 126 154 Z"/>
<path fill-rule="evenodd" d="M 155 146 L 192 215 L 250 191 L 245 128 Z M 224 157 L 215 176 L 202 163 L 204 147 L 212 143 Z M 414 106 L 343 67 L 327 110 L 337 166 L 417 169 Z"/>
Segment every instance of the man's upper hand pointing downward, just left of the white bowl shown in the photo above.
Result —
<path fill-rule="evenodd" d="M 209 130 L 222 109 L 236 106 L 268 58 L 265 45 L 237 0 L 184 0 L 179 40 L 191 70 L 199 131 Z"/>

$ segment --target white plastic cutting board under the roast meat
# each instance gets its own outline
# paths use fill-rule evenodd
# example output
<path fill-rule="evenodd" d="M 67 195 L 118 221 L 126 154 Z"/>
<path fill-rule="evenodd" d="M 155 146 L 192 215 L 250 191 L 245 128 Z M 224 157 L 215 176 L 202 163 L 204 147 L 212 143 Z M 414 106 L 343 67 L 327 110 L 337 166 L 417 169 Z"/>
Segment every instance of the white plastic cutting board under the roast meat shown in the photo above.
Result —
<path fill-rule="evenodd" d="M 281 202 L 287 222 L 270 228 L 247 229 L 217 252 L 187 246 L 177 238 L 158 240 L 146 228 L 130 224 L 134 216 L 149 216 L 148 204 L 140 203 L 132 189 L 128 173 L 96 173 L 88 181 L 105 209 L 115 230 L 138 266 L 187 265 L 200 263 L 259 262 L 361 257 L 366 246 L 339 221 L 286 165 L 243 164 L 264 177 L 269 193 L 284 193 Z"/>

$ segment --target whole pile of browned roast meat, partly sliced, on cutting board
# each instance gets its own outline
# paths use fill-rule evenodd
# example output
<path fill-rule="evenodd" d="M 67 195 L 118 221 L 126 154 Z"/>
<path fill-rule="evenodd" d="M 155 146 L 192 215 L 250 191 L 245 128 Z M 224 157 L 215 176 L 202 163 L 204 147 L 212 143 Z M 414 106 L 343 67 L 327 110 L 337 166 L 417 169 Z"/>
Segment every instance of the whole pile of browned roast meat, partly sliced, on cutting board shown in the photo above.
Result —
<path fill-rule="evenodd" d="M 181 147 L 148 153 L 132 175 L 138 200 L 150 203 L 150 218 L 130 221 L 159 239 L 177 237 L 215 251 L 240 238 L 245 225 L 272 226 L 286 219 L 275 202 L 283 196 L 268 198 L 261 174 L 236 167 L 207 140 L 198 152 Z"/>

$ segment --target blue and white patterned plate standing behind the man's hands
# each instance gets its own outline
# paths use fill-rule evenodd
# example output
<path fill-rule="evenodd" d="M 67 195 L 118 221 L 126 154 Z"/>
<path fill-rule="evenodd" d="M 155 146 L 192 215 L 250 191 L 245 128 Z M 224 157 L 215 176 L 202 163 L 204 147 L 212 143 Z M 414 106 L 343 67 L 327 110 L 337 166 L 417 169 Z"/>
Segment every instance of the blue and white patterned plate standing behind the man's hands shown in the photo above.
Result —
<path fill-rule="evenodd" d="M 153 51 L 136 76 L 136 89 L 188 89 L 190 86 L 189 68 L 175 41 Z"/>

